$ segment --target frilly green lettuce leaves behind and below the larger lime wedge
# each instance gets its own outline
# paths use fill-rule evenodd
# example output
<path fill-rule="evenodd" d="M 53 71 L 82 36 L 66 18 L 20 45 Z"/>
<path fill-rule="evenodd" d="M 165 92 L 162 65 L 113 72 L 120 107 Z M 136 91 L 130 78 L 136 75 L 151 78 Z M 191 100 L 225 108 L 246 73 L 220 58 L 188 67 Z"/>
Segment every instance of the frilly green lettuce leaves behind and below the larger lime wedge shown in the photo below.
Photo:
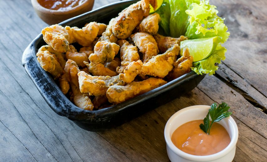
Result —
<path fill-rule="evenodd" d="M 185 35 L 188 39 L 218 36 L 216 50 L 206 59 L 194 62 L 192 67 L 197 74 L 214 74 L 218 69 L 216 63 L 225 59 L 227 51 L 221 44 L 230 35 L 224 19 L 217 16 L 216 6 L 210 5 L 209 0 L 164 0 L 157 13 L 161 18 L 161 35 L 175 38 Z"/>

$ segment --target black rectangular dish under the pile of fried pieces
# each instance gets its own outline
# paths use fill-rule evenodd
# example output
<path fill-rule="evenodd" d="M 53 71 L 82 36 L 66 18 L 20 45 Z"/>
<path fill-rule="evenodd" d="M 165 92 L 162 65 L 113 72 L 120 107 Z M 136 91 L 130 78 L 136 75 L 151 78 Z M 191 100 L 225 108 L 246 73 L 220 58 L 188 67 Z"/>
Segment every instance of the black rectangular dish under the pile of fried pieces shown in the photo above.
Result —
<path fill-rule="evenodd" d="M 116 17 L 124 8 L 136 2 L 134 0 L 112 3 L 97 10 L 68 19 L 60 23 L 60 25 L 83 27 L 84 24 L 92 21 L 107 24 L 111 18 Z M 205 75 L 197 75 L 192 71 L 159 88 L 118 105 L 97 111 L 82 110 L 61 92 L 50 74 L 40 67 L 36 59 L 36 52 L 43 45 L 46 45 L 46 43 L 43 40 L 43 36 L 39 34 L 25 49 L 22 63 L 26 72 L 48 105 L 57 114 L 66 116 L 81 128 L 89 131 L 100 131 L 129 121 L 144 112 L 191 91 L 205 77 Z"/>

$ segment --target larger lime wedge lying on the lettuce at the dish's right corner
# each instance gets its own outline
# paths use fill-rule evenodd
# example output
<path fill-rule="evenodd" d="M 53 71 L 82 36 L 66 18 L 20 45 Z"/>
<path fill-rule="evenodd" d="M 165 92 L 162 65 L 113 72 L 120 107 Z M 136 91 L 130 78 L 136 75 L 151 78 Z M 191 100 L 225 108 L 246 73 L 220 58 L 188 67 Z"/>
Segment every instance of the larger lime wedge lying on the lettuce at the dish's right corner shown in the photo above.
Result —
<path fill-rule="evenodd" d="M 185 48 L 189 49 L 189 53 L 193 56 L 193 62 L 198 62 L 209 57 L 217 47 L 218 37 L 200 38 L 181 41 L 180 55 L 183 55 Z"/>

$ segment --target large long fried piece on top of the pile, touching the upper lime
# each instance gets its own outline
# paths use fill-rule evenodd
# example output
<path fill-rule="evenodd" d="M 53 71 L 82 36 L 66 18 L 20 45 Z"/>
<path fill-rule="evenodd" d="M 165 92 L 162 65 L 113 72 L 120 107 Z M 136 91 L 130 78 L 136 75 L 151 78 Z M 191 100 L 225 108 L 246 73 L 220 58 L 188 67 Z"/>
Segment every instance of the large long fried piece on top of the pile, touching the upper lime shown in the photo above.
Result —
<path fill-rule="evenodd" d="M 157 8 L 156 0 L 141 0 L 125 8 L 114 20 L 112 25 L 113 34 L 120 39 L 129 37 L 141 20 L 149 15 L 149 4 L 154 9 Z"/>

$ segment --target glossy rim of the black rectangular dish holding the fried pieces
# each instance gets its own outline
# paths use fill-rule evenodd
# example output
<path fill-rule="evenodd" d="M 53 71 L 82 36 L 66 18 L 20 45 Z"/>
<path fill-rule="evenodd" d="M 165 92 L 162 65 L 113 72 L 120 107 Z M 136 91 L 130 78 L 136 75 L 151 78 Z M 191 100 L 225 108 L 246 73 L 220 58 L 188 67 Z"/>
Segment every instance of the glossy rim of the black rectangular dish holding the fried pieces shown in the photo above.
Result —
<path fill-rule="evenodd" d="M 108 4 L 106 6 L 103 6 L 101 8 L 98 8 L 96 10 L 93 11 L 89 11 L 85 14 L 81 14 L 79 16 L 76 16 L 74 18 L 68 19 L 63 21 L 62 23 L 60 23 L 59 25 L 65 26 L 68 25 L 69 23 L 73 22 L 77 22 L 79 21 L 79 19 L 82 18 L 86 18 L 87 15 L 90 14 L 94 14 L 94 13 L 98 13 L 101 12 L 101 10 L 105 9 L 105 8 L 109 8 L 112 6 L 116 6 L 118 4 L 132 4 L 134 2 L 137 2 L 137 0 L 126 0 L 126 1 L 120 1 L 120 2 L 115 2 L 115 3 L 111 3 Z M 75 24 L 75 23 L 74 23 Z M 35 86 L 37 87 L 37 89 L 39 90 L 40 94 L 43 96 L 43 98 L 46 100 L 46 102 L 48 103 L 48 105 L 52 108 L 53 111 L 55 111 L 57 114 L 59 114 L 60 116 L 66 116 L 67 118 L 74 120 L 74 121 L 86 121 L 86 120 L 92 120 L 92 118 L 105 118 L 106 116 L 110 115 L 110 114 L 114 114 L 114 113 L 120 113 L 121 111 L 127 109 L 127 107 L 131 107 L 139 102 L 143 102 L 145 100 L 149 100 L 150 98 L 153 98 L 154 96 L 160 95 L 161 93 L 168 91 L 170 89 L 173 89 L 174 87 L 187 82 L 193 78 L 195 78 L 197 76 L 197 74 L 194 71 L 191 71 L 179 78 L 176 78 L 173 81 L 168 82 L 165 85 L 162 85 L 156 89 L 153 89 L 149 92 L 146 92 L 142 95 L 136 96 L 132 99 L 129 99 L 127 101 L 124 101 L 120 104 L 117 105 L 113 105 L 111 107 L 108 108 L 104 108 L 101 110 L 95 110 L 95 111 L 90 111 L 90 110 L 83 110 L 79 107 L 77 107 L 76 105 L 74 105 L 60 90 L 60 88 L 57 86 L 57 84 L 55 83 L 54 79 L 51 78 L 50 74 L 46 71 L 44 71 L 44 69 L 42 69 L 39 66 L 39 62 L 36 59 L 36 52 L 37 52 L 37 45 L 39 44 L 40 40 L 42 40 L 42 34 L 39 34 L 30 44 L 29 46 L 25 49 L 24 53 L 23 53 L 23 57 L 22 57 L 22 63 L 23 66 L 26 70 L 26 72 L 28 73 L 28 75 L 30 76 L 30 78 L 32 79 L 32 81 L 34 82 Z M 31 63 L 33 63 L 34 66 L 31 65 Z M 48 84 L 46 87 L 44 88 L 49 88 L 49 86 L 51 86 L 53 88 L 53 92 L 55 92 L 55 95 L 50 96 L 51 94 L 49 94 L 48 92 L 45 92 L 41 89 L 41 87 L 39 86 L 38 82 L 36 82 L 37 80 L 34 79 L 34 75 L 31 74 L 31 70 L 35 70 L 36 68 L 38 68 L 38 72 L 40 74 L 43 74 L 44 77 L 42 79 L 45 79 L 46 81 L 48 81 Z M 55 98 L 53 98 L 55 97 Z M 64 101 L 66 101 L 66 103 L 64 105 L 57 105 L 57 101 L 56 98 L 61 98 Z M 66 109 L 66 107 L 69 107 Z"/>

